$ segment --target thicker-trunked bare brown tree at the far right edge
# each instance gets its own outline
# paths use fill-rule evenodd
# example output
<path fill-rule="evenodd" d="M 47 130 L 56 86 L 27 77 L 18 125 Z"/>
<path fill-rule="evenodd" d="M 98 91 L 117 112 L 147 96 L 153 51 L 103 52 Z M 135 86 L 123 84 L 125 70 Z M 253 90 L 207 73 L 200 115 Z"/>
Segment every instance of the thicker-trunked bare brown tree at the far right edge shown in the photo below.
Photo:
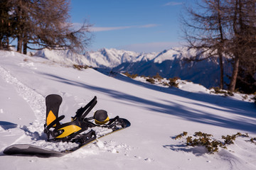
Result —
<path fill-rule="evenodd" d="M 233 74 L 230 79 L 229 90 L 234 91 L 238 79 L 239 69 L 255 74 L 256 50 L 256 8 L 255 0 L 230 0 L 230 33 L 232 36 L 228 45 L 228 52 L 233 57 Z M 241 78 L 241 77 L 240 77 Z"/>

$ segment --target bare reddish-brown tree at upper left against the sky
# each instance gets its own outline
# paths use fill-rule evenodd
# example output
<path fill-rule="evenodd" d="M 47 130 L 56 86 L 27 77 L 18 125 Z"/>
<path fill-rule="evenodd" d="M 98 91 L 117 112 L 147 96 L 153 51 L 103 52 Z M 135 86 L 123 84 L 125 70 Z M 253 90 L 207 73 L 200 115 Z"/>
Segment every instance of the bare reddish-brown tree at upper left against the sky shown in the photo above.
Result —
<path fill-rule="evenodd" d="M 82 51 L 90 42 L 90 24 L 75 30 L 69 0 L 6 0 L 12 4 L 17 51 L 63 48 Z M 0 18 L 4 18 L 0 16 Z M 1 38 L 1 37 L 0 37 Z"/>

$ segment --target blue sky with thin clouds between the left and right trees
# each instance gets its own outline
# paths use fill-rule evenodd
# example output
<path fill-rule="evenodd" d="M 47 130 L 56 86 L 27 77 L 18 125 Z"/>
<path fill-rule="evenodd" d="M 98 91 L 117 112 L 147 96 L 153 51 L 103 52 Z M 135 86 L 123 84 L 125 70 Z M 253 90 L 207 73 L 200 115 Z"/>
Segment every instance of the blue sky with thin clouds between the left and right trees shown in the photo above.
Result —
<path fill-rule="evenodd" d="M 92 24 L 88 50 L 161 52 L 181 46 L 179 17 L 188 0 L 71 0 L 71 22 Z"/>

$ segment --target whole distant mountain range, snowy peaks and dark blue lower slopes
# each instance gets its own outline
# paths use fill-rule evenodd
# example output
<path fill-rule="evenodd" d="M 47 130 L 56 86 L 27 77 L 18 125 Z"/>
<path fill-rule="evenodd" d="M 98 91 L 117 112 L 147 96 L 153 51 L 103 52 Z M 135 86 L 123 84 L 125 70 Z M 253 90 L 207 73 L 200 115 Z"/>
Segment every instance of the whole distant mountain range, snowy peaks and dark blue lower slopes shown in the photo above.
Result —
<path fill-rule="evenodd" d="M 187 47 L 174 47 L 162 52 L 132 52 L 117 49 L 102 48 L 96 52 L 78 54 L 70 50 L 43 49 L 36 52 L 36 56 L 62 64 L 87 65 L 94 68 L 107 69 L 112 72 L 129 72 L 146 77 L 159 74 L 167 79 L 180 77 L 181 79 L 202 84 L 207 88 L 218 86 L 220 68 L 216 58 L 201 62 L 188 60 L 191 57 L 202 59 L 199 51 Z M 225 75 L 231 72 L 231 67 L 225 68 Z M 228 78 L 224 77 L 225 81 Z"/>

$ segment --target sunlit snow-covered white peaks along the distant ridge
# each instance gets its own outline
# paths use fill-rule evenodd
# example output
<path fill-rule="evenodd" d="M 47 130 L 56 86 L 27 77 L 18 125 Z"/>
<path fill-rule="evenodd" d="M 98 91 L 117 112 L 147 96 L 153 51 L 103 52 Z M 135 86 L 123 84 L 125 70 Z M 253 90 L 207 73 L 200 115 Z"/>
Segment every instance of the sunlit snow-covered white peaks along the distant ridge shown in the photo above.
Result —
<path fill-rule="evenodd" d="M 183 53 L 186 53 L 186 49 Z M 117 67 L 119 64 L 125 62 L 142 62 L 142 61 L 153 61 L 161 63 L 165 60 L 173 60 L 174 56 L 181 56 L 182 52 L 178 50 L 170 49 L 164 50 L 163 52 L 150 52 L 150 53 L 139 53 L 126 50 L 117 50 L 114 48 L 107 49 L 102 48 L 96 52 L 85 52 L 84 55 L 75 54 L 68 50 L 48 50 L 44 49 L 36 52 L 36 56 L 46 57 L 50 60 L 66 61 L 67 63 L 87 64 L 91 67 Z M 61 59 L 60 59 L 61 58 Z M 73 60 L 71 62 L 70 60 Z"/>

